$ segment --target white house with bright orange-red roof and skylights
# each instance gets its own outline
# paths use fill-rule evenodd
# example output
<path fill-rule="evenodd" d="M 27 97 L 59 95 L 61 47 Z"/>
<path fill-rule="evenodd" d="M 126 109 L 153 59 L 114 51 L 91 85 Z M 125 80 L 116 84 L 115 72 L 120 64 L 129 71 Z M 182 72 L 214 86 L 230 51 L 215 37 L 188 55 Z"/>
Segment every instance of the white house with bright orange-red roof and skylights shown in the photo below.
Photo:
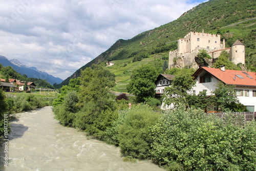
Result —
<path fill-rule="evenodd" d="M 244 104 L 250 112 L 256 112 L 256 73 L 200 67 L 194 74 L 196 86 L 193 93 L 198 94 L 200 91 L 206 91 L 207 95 L 212 95 L 219 81 L 233 85 L 239 101 Z"/>

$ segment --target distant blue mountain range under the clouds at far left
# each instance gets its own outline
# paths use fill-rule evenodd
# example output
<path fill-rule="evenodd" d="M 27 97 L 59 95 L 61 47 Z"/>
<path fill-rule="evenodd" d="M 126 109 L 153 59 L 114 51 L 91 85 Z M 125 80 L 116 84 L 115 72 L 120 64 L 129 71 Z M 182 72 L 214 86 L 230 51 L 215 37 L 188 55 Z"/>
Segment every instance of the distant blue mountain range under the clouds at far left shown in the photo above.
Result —
<path fill-rule="evenodd" d="M 61 83 L 63 81 L 61 78 L 54 77 L 46 72 L 37 70 L 36 67 L 27 67 L 17 59 L 8 60 L 7 57 L 0 55 L 0 63 L 4 67 L 7 67 L 7 66 L 12 67 L 15 71 L 17 71 L 22 75 L 24 74 L 27 75 L 28 78 L 32 77 L 32 78 L 45 79 L 47 82 L 49 82 L 52 85 L 54 83 L 57 83 L 57 84 Z"/>

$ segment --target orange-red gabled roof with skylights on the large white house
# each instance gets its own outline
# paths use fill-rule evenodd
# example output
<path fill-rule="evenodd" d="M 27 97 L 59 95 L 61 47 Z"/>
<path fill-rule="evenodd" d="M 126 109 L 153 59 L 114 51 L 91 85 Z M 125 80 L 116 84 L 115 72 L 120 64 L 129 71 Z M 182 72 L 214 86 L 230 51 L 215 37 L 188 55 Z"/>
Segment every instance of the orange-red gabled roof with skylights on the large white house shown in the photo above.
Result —
<path fill-rule="evenodd" d="M 237 86 L 252 86 L 256 87 L 256 73 L 238 70 L 225 70 L 217 68 L 200 67 L 194 74 L 194 79 L 202 72 L 206 71 L 210 75 L 224 82 Z"/>

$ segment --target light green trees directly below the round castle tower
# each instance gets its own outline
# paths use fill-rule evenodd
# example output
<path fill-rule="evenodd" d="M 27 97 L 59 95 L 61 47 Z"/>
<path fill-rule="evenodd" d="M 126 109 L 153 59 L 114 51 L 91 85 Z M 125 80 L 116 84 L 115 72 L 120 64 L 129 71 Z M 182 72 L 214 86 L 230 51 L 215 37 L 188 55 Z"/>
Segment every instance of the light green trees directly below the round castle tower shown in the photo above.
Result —
<path fill-rule="evenodd" d="M 241 70 L 229 59 L 229 53 L 227 51 L 222 51 L 216 62 L 214 63 L 214 68 L 221 68 L 220 66 L 225 66 L 227 70 Z"/>

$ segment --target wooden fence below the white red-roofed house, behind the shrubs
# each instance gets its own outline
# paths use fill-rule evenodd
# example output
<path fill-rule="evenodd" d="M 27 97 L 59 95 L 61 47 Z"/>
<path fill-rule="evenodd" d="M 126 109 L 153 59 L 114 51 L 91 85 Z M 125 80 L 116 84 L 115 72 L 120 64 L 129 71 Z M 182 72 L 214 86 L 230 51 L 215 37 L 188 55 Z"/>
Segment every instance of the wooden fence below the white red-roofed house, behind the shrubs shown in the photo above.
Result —
<path fill-rule="evenodd" d="M 227 113 L 206 113 L 207 115 L 217 115 L 219 118 L 224 119 Z M 236 124 L 245 125 L 246 122 L 256 120 L 256 112 L 228 112 L 228 114 L 232 114 L 236 117 Z"/>

